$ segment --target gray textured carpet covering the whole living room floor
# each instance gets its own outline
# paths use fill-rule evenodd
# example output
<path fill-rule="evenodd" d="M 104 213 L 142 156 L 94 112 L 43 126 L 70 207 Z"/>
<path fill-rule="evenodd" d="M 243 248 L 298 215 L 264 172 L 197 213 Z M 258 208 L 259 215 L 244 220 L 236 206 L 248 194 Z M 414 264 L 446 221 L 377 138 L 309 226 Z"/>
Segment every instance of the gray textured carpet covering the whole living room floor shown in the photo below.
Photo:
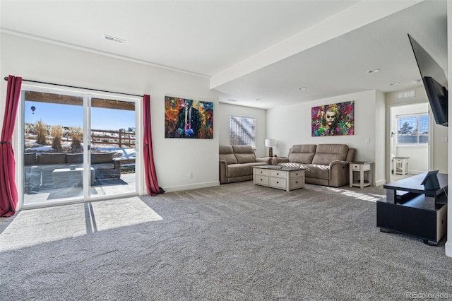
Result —
<path fill-rule="evenodd" d="M 0 300 L 403 300 L 448 293 L 439 247 L 376 228 L 381 187 L 252 182 L 0 218 Z"/>

